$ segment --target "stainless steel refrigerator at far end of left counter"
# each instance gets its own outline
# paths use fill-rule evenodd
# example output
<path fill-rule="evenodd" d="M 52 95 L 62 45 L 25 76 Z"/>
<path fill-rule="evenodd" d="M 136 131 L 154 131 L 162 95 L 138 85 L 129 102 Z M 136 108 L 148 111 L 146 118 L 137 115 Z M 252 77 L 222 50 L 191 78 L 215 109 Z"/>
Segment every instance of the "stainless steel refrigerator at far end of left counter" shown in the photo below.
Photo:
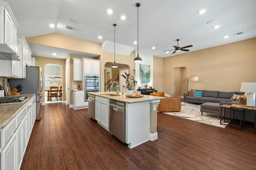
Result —
<path fill-rule="evenodd" d="M 40 101 L 42 96 L 40 94 L 44 87 L 44 75 L 42 68 L 38 66 L 26 67 L 26 78 L 9 78 L 9 84 L 11 89 L 21 84 L 22 91 L 20 91 L 20 94 L 36 94 L 36 120 L 40 120 L 42 117 L 42 112 L 40 111 Z"/>

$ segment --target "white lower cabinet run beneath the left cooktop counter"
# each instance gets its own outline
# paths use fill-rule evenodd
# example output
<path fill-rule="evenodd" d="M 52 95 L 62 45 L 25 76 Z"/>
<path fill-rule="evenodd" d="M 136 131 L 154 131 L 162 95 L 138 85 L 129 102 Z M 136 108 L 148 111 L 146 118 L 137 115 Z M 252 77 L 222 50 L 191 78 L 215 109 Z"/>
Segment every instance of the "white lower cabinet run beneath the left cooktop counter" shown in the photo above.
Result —
<path fill-rule="evenodd" d="M 2 136 L 5 135 L 3 131 L 8 132 L 8 128 L 12 127 L 9 126 L 10 123 L 13 121 L 16 122 L 16 130 L 11 134 L 10 139 L 6 145 L 3 146 L 1 151 L 1 170 L 17 170 L 21 167 L 30 134 L 36 120 L 35 97 L 34 99 L 30 100 L 30 102 L 12 119 L 12 121 L 10 121 L 3 129 L 1 129 L 2 139 Z M 26 111 L 26 114 L 24 114 L 24 111 Z M 24 118 L 18 121 L 20 119 L 20 114 L 24 114 Z"/>

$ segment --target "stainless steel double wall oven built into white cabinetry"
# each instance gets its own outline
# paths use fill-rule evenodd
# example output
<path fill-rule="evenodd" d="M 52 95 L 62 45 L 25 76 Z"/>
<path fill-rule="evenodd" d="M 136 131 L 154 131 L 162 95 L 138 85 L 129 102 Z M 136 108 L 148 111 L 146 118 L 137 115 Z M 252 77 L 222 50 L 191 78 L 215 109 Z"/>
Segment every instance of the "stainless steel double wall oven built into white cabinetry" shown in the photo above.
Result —
<path fill-rule="evenodd" d="M 99 92 L 100 76 L 85 75 L 84 76 L 84 101 L 88 102 L 88 92 Z"/>

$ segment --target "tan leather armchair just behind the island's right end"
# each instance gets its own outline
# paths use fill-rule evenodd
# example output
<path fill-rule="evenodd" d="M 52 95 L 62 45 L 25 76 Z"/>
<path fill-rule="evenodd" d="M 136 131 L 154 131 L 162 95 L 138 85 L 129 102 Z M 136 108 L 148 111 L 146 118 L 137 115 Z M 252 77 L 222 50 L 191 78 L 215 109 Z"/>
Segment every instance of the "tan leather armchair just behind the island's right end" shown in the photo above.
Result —
<path fill-rule="evenodd" d="M 157 94 L 150 93 L 151 96 L 157 96 Z M 160 96 L 160 95 L 159 95 Z M 157 110 L 160 112 L 180 111 L 181 109 L 181 97 L 170 97 L 161 99 Z"/>

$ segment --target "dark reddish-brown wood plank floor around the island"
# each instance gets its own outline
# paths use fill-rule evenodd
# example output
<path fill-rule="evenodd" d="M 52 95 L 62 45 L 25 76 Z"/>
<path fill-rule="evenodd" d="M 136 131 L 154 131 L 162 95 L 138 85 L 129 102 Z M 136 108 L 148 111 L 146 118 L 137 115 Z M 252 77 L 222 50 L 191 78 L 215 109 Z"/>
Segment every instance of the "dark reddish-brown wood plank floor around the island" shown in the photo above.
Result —
<path fill-rule="evenodd" d="M 87 109 L 44 106 L 21 169 L 256 169 L 256 134 L 158 113 L 158 139 L 129 149 Z"/>

